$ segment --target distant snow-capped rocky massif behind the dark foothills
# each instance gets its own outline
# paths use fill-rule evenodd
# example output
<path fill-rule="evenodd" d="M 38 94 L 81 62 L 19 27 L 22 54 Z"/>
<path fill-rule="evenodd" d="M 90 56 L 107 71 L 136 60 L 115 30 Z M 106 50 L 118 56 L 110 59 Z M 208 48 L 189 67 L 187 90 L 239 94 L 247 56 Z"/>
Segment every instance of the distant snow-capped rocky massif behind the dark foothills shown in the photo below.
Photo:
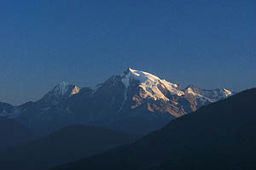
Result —
<path fill-rule="evenodd" d="M 40 133 L 79 123 L 143 134 L 232 94 L 224 88 L 203 90 L 189 85 L 183 89 L 129 68 L 96 90 L 63 82 L 37 102 L 2 110 L 0 105 L 0 115 L 13 117 Z"/>

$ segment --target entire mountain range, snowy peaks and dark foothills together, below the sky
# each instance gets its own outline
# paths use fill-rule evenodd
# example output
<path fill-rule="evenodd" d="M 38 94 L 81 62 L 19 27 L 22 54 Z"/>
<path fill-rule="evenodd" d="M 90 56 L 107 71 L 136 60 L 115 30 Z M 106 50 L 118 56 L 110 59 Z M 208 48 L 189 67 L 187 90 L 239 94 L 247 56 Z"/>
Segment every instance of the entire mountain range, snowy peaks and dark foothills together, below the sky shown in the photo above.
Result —
<path fill-rule="evenodd" d="M 128 69 L 0 103 L 0 169 L 256 169 L 256 88 L 181 88 Z"/>

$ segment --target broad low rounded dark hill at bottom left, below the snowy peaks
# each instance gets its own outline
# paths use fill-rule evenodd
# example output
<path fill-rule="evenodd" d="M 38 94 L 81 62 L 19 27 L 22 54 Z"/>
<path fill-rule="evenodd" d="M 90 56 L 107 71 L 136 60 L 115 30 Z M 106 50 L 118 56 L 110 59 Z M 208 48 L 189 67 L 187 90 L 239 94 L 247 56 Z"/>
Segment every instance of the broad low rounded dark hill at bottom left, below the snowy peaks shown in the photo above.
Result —
<path fill-rule="evenodd" d="M 3 150 L 0 169 L 48 169 L 134 140 L 131 135 L 98 127 L 64 127 L 36 141 Z"/>

